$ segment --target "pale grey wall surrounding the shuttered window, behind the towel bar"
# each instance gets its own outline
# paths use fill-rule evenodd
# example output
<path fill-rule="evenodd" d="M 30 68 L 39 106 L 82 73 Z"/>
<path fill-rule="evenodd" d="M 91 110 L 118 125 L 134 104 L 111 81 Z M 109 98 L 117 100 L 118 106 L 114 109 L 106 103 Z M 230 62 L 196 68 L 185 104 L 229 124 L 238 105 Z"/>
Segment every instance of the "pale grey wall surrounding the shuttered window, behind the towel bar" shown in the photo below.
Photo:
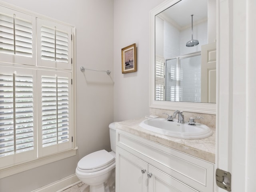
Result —
<path fill-rule="evenodd" d="M 113 0 L 4 0 L 76 26 L 77 155 L 0 179 L 1 192 L 29 192 L 75 173 L 77 162 L 95 150 L 110 150 L 113 121 Z M 80 67 L 110 70 L 86 71 Z M 148 95 L 147 95 L 148 97 Z"/>

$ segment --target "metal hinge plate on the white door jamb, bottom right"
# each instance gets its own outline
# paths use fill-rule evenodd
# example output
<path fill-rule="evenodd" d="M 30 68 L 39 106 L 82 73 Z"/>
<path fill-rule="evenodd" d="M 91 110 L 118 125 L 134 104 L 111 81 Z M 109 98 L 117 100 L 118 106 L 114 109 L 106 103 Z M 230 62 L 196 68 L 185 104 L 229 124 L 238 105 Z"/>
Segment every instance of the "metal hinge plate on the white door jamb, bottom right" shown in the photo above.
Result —
<path fill-rule="evenodd" d="M 216 169 L 216 184 L 227 191 L 231 191 L 231 173 Z"/>

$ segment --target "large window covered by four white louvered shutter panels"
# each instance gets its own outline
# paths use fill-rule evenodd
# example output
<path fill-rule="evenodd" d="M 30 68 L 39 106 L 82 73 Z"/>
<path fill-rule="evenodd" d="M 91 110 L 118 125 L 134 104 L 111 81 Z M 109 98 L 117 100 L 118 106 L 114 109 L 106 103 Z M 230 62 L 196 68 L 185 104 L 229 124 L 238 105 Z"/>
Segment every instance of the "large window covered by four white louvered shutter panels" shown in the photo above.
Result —
<path fill-rule="evenodd" d="M 0 170 L 76 147 L 73 34 L 0 4 Z"/>

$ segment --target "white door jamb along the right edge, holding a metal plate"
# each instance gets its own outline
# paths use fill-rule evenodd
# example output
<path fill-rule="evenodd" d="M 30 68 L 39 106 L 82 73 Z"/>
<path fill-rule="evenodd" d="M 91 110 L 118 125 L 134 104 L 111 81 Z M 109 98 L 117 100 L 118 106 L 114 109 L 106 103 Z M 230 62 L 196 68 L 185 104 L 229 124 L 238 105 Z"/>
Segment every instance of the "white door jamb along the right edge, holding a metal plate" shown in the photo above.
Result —
<path fill-rule="evenodd" d="M 255 192 L 255 0 L 217 0 L 217 68 L 216 168 L 231 173 L 232 192 Z"/>

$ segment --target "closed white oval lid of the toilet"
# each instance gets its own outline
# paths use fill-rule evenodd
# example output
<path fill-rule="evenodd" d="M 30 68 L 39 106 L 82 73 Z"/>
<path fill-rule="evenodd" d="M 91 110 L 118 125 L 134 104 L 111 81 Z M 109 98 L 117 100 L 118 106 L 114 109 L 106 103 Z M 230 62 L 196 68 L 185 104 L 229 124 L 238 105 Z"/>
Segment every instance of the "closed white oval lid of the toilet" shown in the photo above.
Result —
<path fill-rule="evenodd" d="M 106 150 L 100 150 L 84 156 L 77 164 L 78 168 L 84 172 L 94 172 L 102 170 L 115 162 L 112 156 Z"/>

